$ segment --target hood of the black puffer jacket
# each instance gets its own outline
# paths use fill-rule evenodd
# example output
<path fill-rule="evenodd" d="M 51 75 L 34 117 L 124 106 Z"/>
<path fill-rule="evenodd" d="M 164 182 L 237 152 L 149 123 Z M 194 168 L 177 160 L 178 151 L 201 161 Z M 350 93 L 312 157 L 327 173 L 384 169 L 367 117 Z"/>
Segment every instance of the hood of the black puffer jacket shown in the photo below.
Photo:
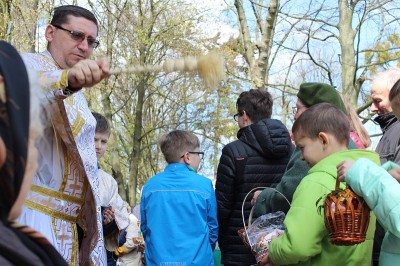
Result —
<path fill-rule="evenodd" d="M 282 158 L 294 149 L 289 131 L 276 119 L 262 119 L 241 128 L 237 137 L 266 158 Z"/>

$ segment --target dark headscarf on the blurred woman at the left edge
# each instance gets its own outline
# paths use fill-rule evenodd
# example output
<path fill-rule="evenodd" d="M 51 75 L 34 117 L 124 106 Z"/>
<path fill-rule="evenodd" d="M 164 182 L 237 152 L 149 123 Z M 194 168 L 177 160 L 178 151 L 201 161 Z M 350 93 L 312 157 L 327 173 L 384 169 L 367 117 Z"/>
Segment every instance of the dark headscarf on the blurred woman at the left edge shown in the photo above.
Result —
<path fill-rule="evenodd" d="M 24 178 L 29 134 L 29 80 L 24 62 L 10 44 L 0 42 L 0 136 L 7 157 L 0 168 L 0 216 L 4 222 Z M 1 84 L 3 83 L 3 84 Z"/>

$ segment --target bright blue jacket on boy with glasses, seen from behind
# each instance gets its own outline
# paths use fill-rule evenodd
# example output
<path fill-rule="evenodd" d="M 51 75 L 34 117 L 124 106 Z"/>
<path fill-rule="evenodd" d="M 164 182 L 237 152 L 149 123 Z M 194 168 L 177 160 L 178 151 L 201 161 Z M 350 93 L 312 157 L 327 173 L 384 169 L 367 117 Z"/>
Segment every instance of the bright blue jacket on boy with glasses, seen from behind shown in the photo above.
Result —
<path fill-rule="evenodd" d="M 214 265 L 218 222 L 211 180 L 171 163 L 144 185 L 140 212 L 146 265 Z"/>

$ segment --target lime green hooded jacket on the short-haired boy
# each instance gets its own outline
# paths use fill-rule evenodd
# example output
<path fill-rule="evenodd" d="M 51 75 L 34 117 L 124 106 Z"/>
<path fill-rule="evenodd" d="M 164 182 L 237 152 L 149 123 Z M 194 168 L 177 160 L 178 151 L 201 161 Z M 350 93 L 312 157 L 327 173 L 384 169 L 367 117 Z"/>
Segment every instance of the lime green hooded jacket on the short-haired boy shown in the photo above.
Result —
<path fill-rule="evenodd" d="M 337 246 L 330 242 L 323 211 L 323 199 L 335 189 L 336 166 L 343 160 L 367 158 L 380 165 L 379 155 L 369 150 L 336 152 L 313 166 L 300 182 L 286 215 L 285 233 L 271 241 L 269 257 L 274 265 L 371 265 L 376 217 L 371 219 L 365 242 L 353 246 Z M 344 188 L 345 184 L 341 184 Z"/>

